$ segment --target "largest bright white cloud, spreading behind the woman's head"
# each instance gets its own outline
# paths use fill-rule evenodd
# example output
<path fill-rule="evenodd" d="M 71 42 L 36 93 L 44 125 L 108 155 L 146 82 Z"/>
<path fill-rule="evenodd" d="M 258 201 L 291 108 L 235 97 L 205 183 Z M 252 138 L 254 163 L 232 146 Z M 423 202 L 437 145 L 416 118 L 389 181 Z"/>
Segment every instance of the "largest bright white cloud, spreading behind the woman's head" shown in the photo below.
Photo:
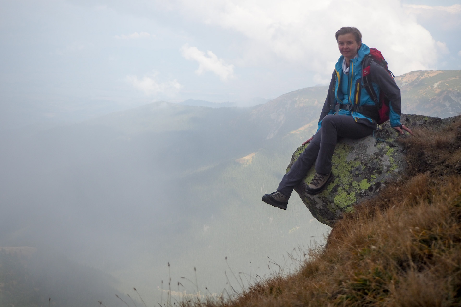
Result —
<path fill-rule="evenodd" d="M 437 64 L 436 41 L 396 0 L 355 0 L 354 14 L 366 18 L 353 21 L 344 14 L 352 2 L 343 0 L 176 0 L 174 3 L 176 10 L 188 18 L 243 35 L 246 42 L 239 46 L 242 60 L 237 62 L 241 65 L 286 61 L 317 74 L 317 80 L 326 79 L 340 56 L 334 34 L 348 25 L 361 29 L 363 42 L 381 50 L 390 69 L 398 75 L 434 69 Z M 198 54 L 197 58 L 206 57 Z M 266 63 L 261 63 L 265 60 Z"/>

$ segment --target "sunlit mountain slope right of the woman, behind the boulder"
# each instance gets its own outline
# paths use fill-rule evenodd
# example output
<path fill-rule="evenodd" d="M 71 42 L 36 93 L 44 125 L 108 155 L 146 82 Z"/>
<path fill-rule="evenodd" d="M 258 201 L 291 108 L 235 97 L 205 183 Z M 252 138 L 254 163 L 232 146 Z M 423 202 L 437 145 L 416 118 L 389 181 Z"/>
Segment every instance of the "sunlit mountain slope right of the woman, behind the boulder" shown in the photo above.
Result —
<path fill-rule="evenodd" d="M 461 70 L 415 70 L 396 82 L 403 113 L 442 118 L 461 113 Z"/>

